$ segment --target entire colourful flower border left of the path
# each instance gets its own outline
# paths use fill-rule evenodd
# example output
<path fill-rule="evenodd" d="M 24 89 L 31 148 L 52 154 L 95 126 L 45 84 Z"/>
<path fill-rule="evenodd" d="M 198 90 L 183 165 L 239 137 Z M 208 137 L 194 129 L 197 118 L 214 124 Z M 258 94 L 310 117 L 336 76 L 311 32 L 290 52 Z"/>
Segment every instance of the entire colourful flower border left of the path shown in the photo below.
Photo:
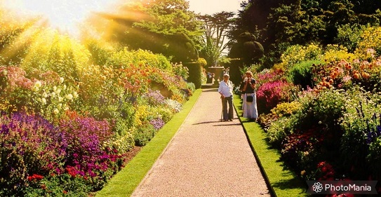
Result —
<path fill-rule="evenodd" d="M 163 55 L 0 23 L 0 49 L 20 53 L 0 55 L 0 196 L 101 189 L 195 90 L 187 67 Z"/>

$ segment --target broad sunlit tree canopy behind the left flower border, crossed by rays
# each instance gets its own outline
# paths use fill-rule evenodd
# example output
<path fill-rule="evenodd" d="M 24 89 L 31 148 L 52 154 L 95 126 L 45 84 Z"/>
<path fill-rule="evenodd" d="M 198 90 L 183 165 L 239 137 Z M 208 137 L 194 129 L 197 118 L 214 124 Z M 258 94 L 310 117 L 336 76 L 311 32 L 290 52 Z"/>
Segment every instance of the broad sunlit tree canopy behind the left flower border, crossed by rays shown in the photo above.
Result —
<path fill-rule="evenodd" d="M 172 57 L 174 62 L 198 58 L 194 40 L 201 36 L 201 23 L 188 11 L 185 0 L 133 0 L 113 14 L 98 13 L 105 22 L 98 32 L 103 39 L 121 43 L 130 49 L 151 50 Z M 107 28 L 105 28 L 107 27 Z"/>

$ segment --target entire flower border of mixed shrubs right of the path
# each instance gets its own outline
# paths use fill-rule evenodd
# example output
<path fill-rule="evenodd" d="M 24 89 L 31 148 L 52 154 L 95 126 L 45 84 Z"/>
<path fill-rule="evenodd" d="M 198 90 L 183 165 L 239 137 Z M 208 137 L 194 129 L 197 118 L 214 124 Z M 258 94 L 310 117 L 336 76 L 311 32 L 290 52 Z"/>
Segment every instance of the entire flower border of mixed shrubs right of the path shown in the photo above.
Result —
<path fill-rule="evenodd" d="M 290 79 L 303 86 L 298 98 L 290 102 L 267 100 L 272 109 L 258 119 L 270 144 L 280 149 L 283 161 L 301 177 L 381 178 L 376 167 L 381 165 L 381 53 L 375 49 L 378 41 L 374 37 L 379 29 L 368 27 L 357 32 L 361 39 L 347 43 L 358 46 L 354 53 L 342 46 L 327 46 L 308 57 L 305 48 L 290 47 L 282 55 L 283 62 L 266 72 L 278 75 L 261 78 L 262 74 L 257 74 L 258 81 L 265 81 L 258 88 L 258 100 L 260 90 L 269 82 Z M 279 95 L 283 86 L 276 87 L 267 88 L 267 94 Z"/>

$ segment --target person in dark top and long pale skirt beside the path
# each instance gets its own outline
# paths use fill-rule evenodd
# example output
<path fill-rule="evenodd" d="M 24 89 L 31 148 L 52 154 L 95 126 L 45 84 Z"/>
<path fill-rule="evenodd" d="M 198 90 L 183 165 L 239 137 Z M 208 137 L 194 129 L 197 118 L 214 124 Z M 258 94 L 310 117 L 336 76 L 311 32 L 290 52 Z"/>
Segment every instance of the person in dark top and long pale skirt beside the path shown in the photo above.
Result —
<path fill-rule="evenodd" d="M 243 117 L 250 118 L 255 121 L 258 118 L 257 110 L 257 96 L 255 94 L 255 79 L 253 73 L 248 71 L 245 73 L 246 77 L 243 79 L 239 90 L 243 94 Z"/>

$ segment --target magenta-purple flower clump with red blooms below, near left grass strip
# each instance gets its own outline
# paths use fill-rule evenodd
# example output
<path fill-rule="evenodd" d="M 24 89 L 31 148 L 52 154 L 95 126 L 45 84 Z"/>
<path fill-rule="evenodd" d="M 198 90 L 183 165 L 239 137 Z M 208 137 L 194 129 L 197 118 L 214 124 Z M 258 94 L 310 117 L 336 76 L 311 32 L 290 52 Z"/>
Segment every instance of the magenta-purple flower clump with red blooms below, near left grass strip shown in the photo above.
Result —
<path fill-rule="evenodd" d="M 102 188 L 123 160 L 116 150 L 104 145 L 113 136 L 109 123 L 76 117 L 62 121 L 60 131 L 66 149 L 65 171 L 72 177 L 91 179 L 94 189 Z"/>

